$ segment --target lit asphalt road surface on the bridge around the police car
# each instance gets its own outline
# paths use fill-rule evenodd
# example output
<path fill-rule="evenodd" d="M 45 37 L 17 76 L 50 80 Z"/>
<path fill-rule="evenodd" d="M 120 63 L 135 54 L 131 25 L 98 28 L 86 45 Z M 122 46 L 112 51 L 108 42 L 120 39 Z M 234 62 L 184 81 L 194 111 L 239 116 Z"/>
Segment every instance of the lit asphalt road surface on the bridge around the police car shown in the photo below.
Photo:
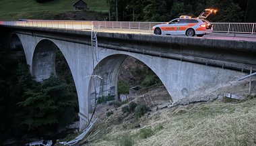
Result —
<path fill-rule="evenodd" d="M 134 33 L 143 35 L 154 35 L 150 29 L 120 29 L 120 28 L 100 28 L 98 32 L 108 33 Z M 169 37 L 170 35 L 162 35 L 163 37 Z M 188 37 L 186 35 L 171 35 L 176 37 Z M 239 34 L 239 33 L 212 33 L 203 35 L 203 37 L 194 36 L 198 39 L 212 39 L 212 40 L 236 40 L 236 41 L 247 41 L 256 42 L 255 34 Z"/>

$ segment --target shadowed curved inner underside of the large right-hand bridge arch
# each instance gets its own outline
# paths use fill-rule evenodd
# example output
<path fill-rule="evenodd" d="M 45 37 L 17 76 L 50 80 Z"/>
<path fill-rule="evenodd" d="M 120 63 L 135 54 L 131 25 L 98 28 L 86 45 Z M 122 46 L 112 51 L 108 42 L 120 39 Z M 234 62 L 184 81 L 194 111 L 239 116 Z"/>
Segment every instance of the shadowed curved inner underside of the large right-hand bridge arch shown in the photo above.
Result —
<path fill-rule="evenodd" d="M 150 65 L 148 62 L 141 60 L 137 56 L 133 56 L 131 54 L 110 54 L 106 56 L 102 60 L 96 64 L 94 67 L 94 72 L 92 73 L 92 77 L 90 79 L 89 91 L 88 91 L 88 103 L 89 104 L 89 113 L 94 108 L 95 102 L 95 94 L 97 97 L 99 96 L 115 96 L 117 99 L 117 82 L 119 76 L 119 70 L 124 60 L 128 57 L 135 58 L 136 60 L 141 61 L 143 64 L 146 64 L 148 68 L 150 68 L 156 76 L 163 82 L 163 78 L 160 78 L 159 72 L 154 70 L 154 67 Z M 164 85 L 165 86 L 165 85 Z M 95 87 L 95 88 L 94 88 Z M 172 96 L 170 95 L 172 98 Z"/>

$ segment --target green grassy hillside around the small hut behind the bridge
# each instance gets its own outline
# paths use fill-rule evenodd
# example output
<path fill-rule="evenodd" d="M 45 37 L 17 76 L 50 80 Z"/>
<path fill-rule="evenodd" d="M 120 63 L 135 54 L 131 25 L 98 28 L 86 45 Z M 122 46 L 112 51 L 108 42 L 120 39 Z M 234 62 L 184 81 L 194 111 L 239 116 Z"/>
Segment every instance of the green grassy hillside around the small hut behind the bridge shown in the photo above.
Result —
<path fill-rule="evenodd" d="M 48 3 L 36 3 L 35 0 L 1 0 L 0 20 L 17 20 L 43 15 L 73 11 L 73 3 L 77 0 L 54 0 Z M 92 11 L 108 11 L 106 0 L 84 0 Z"/>

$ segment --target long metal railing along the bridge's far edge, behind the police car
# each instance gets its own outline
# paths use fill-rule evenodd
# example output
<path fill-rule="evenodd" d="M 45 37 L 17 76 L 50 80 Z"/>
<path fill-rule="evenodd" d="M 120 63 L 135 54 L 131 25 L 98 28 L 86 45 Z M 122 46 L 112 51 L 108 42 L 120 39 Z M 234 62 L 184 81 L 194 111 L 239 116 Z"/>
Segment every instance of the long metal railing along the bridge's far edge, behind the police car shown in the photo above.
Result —
<path fill-rule="evenodd" d="M 137 21 L 55 21 L 33 20 L 0 21 L 0 25 L 18 25 L 26 27 L 48 27 L 56 29 L 92 29 L 93 26 L 124 29 L 152 29 L 154 25 L 166 22 Z M 214 32 L 256 34 L 256 23 L 212 23 Z"/>

